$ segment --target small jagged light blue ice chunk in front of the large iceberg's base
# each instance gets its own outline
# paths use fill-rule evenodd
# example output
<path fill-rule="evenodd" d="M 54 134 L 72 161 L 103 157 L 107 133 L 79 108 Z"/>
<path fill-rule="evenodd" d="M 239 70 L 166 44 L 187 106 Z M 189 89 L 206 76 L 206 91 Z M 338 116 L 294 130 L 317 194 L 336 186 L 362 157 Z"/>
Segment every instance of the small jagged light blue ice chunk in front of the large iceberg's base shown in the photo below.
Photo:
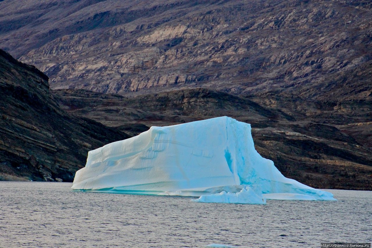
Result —
<path fill-rule="evenodd" d="M 198 199 L 191 201 L 205 203 L 266 204 L 266 198 L 263 198 L 262 193 L 256 194 L 250 187 L 242 188 L 241 191 L 237 193 L 226 193 L 226 191 L 222 191 L 218 194 L 202 195 Z"/>

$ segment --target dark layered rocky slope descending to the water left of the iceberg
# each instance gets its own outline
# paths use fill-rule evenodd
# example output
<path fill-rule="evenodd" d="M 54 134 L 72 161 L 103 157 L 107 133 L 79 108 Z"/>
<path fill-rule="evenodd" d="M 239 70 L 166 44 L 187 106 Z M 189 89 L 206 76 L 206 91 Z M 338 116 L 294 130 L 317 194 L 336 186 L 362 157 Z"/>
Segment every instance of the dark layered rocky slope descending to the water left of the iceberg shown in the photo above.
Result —
<path fill-rule="evenodd" d="M 60 109 L 48 77 L 0 50 L 0 180 L 72 181 L 89 150 L 125 134 Z"/>

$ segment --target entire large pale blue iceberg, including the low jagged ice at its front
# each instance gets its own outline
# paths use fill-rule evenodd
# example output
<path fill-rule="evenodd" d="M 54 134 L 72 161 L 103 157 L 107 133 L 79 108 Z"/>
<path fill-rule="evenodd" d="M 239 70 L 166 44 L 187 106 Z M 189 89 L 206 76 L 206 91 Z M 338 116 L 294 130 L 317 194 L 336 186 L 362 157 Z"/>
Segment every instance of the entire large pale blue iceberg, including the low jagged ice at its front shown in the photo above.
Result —
<path fill-rule="evenodd" d="M 202 196 L 198 202 L 335 200 L 331 193 L 284 177 L 254 149 L 250 124 L 230 117 L 151 127 L 92 150 L 72 189 Z"/>

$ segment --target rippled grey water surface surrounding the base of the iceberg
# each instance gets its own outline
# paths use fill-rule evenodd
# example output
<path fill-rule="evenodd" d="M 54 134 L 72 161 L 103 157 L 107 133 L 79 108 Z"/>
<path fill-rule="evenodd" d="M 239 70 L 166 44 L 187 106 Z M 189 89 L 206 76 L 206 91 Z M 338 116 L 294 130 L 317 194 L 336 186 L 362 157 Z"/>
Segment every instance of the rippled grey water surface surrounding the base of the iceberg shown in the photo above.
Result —
<path fill-rule="evenodd" d="M 267 205 L 75 192 L 70 183 L 0 182 L 0 247 L 320 247 L 372 242 L 372 191 Z"/>

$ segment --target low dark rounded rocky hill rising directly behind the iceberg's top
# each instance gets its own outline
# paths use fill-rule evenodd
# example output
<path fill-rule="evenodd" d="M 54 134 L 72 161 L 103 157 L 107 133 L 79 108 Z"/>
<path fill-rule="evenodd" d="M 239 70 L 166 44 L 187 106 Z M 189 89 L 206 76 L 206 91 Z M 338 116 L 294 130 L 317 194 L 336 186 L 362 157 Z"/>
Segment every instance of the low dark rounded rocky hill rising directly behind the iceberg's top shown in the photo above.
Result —
<path fill-rule="evenodd" d="M 54 90 L 64 109 L 110 127 L 124 123 L 180 124 L 201 118 L 230 115 L 250 123 L 291 120 L 281 111 L 264 108 L 246 98 L 196 88 L 137 97 L 107 95 L 87 90 Z"/>

